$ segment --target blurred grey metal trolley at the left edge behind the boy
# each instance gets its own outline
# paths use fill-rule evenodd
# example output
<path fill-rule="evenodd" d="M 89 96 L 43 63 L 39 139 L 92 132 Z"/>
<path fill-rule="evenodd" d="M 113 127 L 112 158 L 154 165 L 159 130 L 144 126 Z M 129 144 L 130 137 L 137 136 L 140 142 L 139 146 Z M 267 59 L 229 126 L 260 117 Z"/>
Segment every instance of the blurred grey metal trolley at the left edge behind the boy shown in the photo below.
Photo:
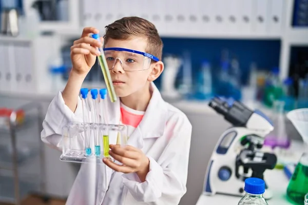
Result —
<path fill-rule="evenodd" d="M 20 125 L 17 110 L 24 111 Z M 45 193 L 42 118 L 41 105 L 28 103 L 13 109 L 0 128 L 0 202 L 21 204 L 28 194 L 37 190 Z"/>

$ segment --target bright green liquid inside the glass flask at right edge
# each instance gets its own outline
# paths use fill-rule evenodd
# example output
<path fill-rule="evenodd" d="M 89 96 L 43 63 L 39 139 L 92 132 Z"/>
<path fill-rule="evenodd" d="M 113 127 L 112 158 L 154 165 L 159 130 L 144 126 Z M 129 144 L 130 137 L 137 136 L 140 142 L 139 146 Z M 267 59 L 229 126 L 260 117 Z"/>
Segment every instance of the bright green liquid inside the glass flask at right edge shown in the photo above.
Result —
<path fill-rule="evenodd" d="M 303 204 L 308 193 L 308 166 L 298 163 L 288 184 L 286 194 L 292 201 Z"/>

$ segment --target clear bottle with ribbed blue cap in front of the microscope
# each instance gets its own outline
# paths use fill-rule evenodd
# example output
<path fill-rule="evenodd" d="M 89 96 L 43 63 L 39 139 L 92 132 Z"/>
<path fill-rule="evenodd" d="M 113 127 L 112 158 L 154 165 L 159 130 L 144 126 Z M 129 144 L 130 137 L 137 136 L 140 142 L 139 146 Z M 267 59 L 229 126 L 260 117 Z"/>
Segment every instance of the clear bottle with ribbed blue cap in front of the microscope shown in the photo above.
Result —
<path fill-rule="evenodd" d="M 265 192 L 265 182 L 259 178 L 247 178 L 245 180 L 244 190 L 246 194 L 240 200 L 238 205 L 268 205 L 263 198 Z"/>

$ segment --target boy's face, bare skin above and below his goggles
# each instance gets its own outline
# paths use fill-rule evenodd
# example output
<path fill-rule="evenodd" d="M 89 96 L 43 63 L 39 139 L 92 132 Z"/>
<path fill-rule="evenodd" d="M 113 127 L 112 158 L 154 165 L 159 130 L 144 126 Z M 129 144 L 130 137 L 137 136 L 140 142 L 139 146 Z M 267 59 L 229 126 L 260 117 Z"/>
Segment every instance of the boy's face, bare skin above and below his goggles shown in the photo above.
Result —
<path fill-rule="evenodd" d="M 147 40 L 143 37 L 134 37 L 129 40 L 115 40 L 109 38 L 105 48 L 120 47 L 145 52 L 146 45 Z M 124 61 L 125 59 L 121 60 Z M 120 61 L 117 60 L 113 69 L 109 71 L 115 93 L 119 97 L 125 97 L 144 88 L 151 74 L 152 65 L 146 70 L 125 71 Z"/>

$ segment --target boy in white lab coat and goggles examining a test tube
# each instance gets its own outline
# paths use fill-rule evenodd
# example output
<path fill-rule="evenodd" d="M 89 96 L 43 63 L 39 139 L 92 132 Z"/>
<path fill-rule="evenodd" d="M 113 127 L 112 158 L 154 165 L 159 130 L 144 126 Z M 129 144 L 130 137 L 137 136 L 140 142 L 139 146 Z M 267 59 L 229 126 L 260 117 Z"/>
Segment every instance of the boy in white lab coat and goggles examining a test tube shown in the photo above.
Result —
<path fill-rule="evenodd" d="M 67 85 L 52 100 L 43 122 L 42 140 L 55 149 L 61 150 L 62 128 L 82 121 L 79 92 L 102 46 L 89 37 L 91 33 L 99 31 L 85 28 L 71 47 L 73 67 Z M 67 204 L 178 204 L 186 192 L 191 124 L 152 83 L 164 70 L 162 40 L 155 26 L 139 17 L 106 26 L 103 40 L 119 97 L 115 103 L 108 100 L 109 124 L 121 120 L 129 128 L 128 146 L 110 145 L 110 155 L 123 166 L 111 160 L 82 164 Z"/>

